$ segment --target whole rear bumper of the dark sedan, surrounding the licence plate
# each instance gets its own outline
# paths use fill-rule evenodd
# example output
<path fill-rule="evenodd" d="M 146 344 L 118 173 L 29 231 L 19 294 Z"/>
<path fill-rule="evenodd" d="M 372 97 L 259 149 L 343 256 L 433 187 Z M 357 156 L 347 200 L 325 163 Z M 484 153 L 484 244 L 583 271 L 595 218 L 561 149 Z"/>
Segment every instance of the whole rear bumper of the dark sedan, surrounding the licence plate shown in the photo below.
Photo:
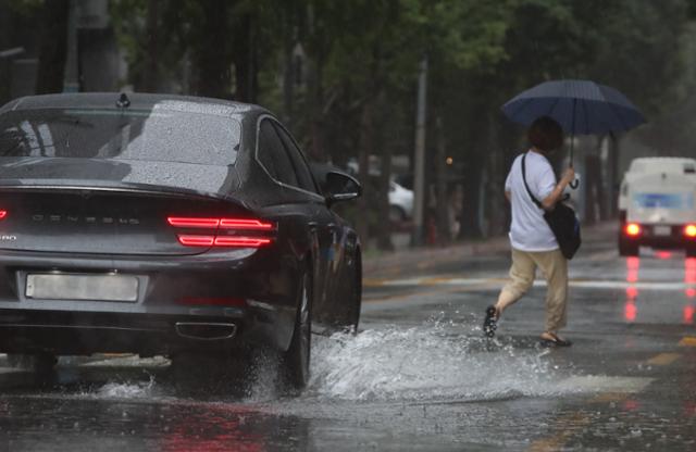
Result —
<path fill-rule="evenodd" d="M 241 251 L 241 250 L 237 250 Z M 94 258 L 0 256 L 0 352 L 55 354 L 232 350 L 291 338 L 299 280 L 272 253 Z M 28 275 L 128 275 L 133 301 L 36 299 Z"/>

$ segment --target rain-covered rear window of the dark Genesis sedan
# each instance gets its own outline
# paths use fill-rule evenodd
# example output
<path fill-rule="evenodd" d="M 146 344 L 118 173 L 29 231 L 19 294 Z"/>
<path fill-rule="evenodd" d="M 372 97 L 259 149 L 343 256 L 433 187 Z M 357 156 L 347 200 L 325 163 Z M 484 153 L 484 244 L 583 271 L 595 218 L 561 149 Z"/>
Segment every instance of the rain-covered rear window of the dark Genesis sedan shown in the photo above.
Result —
<path fill-rule="evenodd" d="M 78 158 L 231 165 L 241 126 L 200 112 L 46 109 L 0 115 L 0 158 Z"/>

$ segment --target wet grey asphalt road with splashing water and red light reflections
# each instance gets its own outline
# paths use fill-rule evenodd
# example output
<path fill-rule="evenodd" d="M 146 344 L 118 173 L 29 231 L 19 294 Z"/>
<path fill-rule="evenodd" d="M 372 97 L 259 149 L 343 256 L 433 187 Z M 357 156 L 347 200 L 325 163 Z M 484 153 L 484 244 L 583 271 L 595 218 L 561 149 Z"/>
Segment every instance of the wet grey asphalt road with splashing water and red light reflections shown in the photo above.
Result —
<path fill-rule="evenodd" d="M 312 380 L 277 394 L 181 381 L 166 360 L 0 359 L 0 451 L 696 450 L 696 260 L 620 259 L 602 229 L 571 263 L 570 349 L 537 343 L 544 287 L 480 324 L 507 253 L 365 275 L 361 331 L 315 336 Z M 456 258 L 456 256 L 455 256 Z"/>

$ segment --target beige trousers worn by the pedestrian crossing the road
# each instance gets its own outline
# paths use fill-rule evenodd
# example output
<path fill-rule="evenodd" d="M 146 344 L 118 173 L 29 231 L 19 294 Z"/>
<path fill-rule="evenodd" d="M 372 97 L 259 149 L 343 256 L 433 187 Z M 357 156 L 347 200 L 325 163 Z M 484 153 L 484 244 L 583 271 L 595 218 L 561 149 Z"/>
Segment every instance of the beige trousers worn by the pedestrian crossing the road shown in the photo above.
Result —
<path fill-rule="evenodd" d="M 546 289 L 546 331 L 556 334 L 566 326 L 568 305 L 568 261 L 560 250 L 529 252 L 512 248 L 510 281 L 500 291 L 498 307 L 501 313 L 518 301 L 534 284 L 536 268 L 544 274 Z"/>

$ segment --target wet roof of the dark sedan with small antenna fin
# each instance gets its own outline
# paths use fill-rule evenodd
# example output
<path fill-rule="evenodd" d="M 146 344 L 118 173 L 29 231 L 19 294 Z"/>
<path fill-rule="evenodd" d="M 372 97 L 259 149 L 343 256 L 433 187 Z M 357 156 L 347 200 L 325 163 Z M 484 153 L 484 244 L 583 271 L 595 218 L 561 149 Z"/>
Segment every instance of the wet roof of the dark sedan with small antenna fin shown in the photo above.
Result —
<path fill-rule="evenodd" d="M 74 92 L 59 95 L 27 96 L 10 101 L 0 108 L 0 113 L 11 110 L 36 109 L 116 109 L 121 92 Z M 129 109 L 167 109 L 191 113 L 217 115 L 247 115 L 269 113 L 265 109 L 243 102 L 195 96 L 126 93 Z"/>

